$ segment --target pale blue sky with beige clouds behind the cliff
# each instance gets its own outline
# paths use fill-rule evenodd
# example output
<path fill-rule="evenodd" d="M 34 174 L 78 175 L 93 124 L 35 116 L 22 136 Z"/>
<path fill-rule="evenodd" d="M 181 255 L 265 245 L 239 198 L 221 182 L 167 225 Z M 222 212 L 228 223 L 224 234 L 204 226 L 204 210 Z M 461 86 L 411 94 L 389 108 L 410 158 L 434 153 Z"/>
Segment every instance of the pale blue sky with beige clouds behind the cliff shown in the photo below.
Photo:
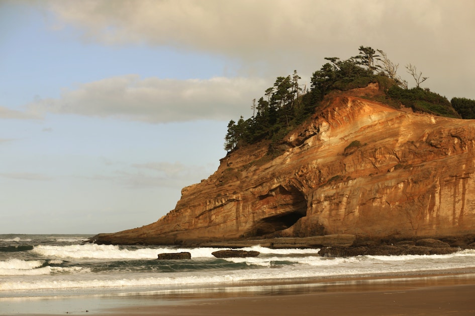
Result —
<path fill-rule="evenodd" d="M 475 99 L 472 0 L 0 0 L 0 234 L 140 227 L 213 174 L 227 124 L 325 57 L 386 52 Z"/>

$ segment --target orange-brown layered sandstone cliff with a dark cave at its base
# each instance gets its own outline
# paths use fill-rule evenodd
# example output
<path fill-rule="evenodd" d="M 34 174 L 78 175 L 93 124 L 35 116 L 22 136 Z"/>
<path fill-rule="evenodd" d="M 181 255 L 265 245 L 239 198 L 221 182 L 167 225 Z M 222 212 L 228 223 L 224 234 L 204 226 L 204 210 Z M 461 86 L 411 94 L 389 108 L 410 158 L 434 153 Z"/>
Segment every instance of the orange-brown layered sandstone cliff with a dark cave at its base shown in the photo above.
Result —
<path fill-rule="evenodd" d="M 475 233 L 475 120 L 371 101 L 377 86 L 328 96 L 281 143 L 237 148 L 182 189 L 157 222 L 98 243 L 204 242 L 349 234 L 358 239 Z"/>

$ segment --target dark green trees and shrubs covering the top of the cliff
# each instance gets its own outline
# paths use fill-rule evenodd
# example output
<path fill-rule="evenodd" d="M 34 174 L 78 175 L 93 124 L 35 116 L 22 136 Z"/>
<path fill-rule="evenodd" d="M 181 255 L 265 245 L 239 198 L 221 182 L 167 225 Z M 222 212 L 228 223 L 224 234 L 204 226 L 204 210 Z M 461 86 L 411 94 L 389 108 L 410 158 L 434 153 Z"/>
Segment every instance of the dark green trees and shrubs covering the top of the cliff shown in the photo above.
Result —
<path fill-rule="evenodd" d="M 258 99 L 257 104 L 255 99 L 253 100 L 252 117 L 244 120 L 241 116 L 237 122 L 229 122 L 225 149 L 230 151 L 237 146 L 266 139 L 270 142 L 268 156 L 274 157 L 282 152 L 279 147 L 282 138 L 314 114 L 329 92 L 364 88 L 376 82 L 385 94 L 371 97 L 373 100 L 395 108 L 399 108 L 402 103 L 414 111 L 459 117 L 445 97 L 430 92 L 429 89 L 408 89 L 407 82 L 396 73 L 398 65 L 392 63 L 385 52 L 363 46 L 360 46 L 358 51 L 357 56 L 347 60 L 340 60 L 338 57 L 325 58 L 328 62 L 311 77 L 310 90 L 306 87 L 302 89 L 297 71 L 285 77 L 277 77 L 274 84 L 264 91 L 264 96 Z M 376 52 L 379 55 L 376 55 Z M 415 66 L 409 66 L 406 68 L 413 70 L 412 74 L 418 84 L 427 79 L 421 79 L 421 74 Z M 464 118 L 475 118 L 475 106 L 471 103 L 475 101 L 452 99 L 452 102 L 454 107 L 463 112 Z M 346 151 L 353 148 L 350 150 L 353 152 L 354 148 L 361 145 L 352 144 Z"/>

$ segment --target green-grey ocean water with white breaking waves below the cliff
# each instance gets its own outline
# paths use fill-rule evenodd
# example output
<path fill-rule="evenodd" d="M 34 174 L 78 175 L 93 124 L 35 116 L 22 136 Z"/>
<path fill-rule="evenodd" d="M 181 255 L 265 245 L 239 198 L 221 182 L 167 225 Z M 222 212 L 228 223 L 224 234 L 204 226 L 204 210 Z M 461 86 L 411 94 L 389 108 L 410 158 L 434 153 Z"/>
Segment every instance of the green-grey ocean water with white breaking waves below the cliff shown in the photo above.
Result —
<path fill-rule="evenodd" d="M 475 250 L 448 255 L 325 258 L 319 249 L 243 248 L 254 258 L 218 259 L 229 248 L 115 246 L 87 243 L 90 235 L 0 235 L 0 314 L 27 313 L 25 301 L 81 297 L 262 290 L 262 284 L 475 271 Z M 187 251 L 190 260 L 157 260 Z M 259 286 L 257 286 L 259 284 Z M 268 288 L 267 288 L 268 289 Z M 79 307 L 78 307 L 79 308 Z M 50 310 L 61 313 L 63 310 Z"/>

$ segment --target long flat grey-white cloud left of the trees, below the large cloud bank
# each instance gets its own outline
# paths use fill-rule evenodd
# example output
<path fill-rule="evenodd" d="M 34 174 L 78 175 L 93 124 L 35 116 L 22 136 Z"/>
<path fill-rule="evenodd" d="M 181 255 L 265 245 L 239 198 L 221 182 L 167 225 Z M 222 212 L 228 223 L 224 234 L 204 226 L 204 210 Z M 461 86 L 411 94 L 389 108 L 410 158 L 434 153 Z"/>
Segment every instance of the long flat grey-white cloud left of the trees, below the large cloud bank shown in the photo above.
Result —
<path fill-rule="evenodd" d="M 63 89 L 59 99 L 38 99 L 28 108 L 37 114 L 78 114 L 151 123 L 229 120 L 250 113 L 251 96 L 262 95 L 265 85 L 258 78 L 174 80 L 126 75 Z"/>

